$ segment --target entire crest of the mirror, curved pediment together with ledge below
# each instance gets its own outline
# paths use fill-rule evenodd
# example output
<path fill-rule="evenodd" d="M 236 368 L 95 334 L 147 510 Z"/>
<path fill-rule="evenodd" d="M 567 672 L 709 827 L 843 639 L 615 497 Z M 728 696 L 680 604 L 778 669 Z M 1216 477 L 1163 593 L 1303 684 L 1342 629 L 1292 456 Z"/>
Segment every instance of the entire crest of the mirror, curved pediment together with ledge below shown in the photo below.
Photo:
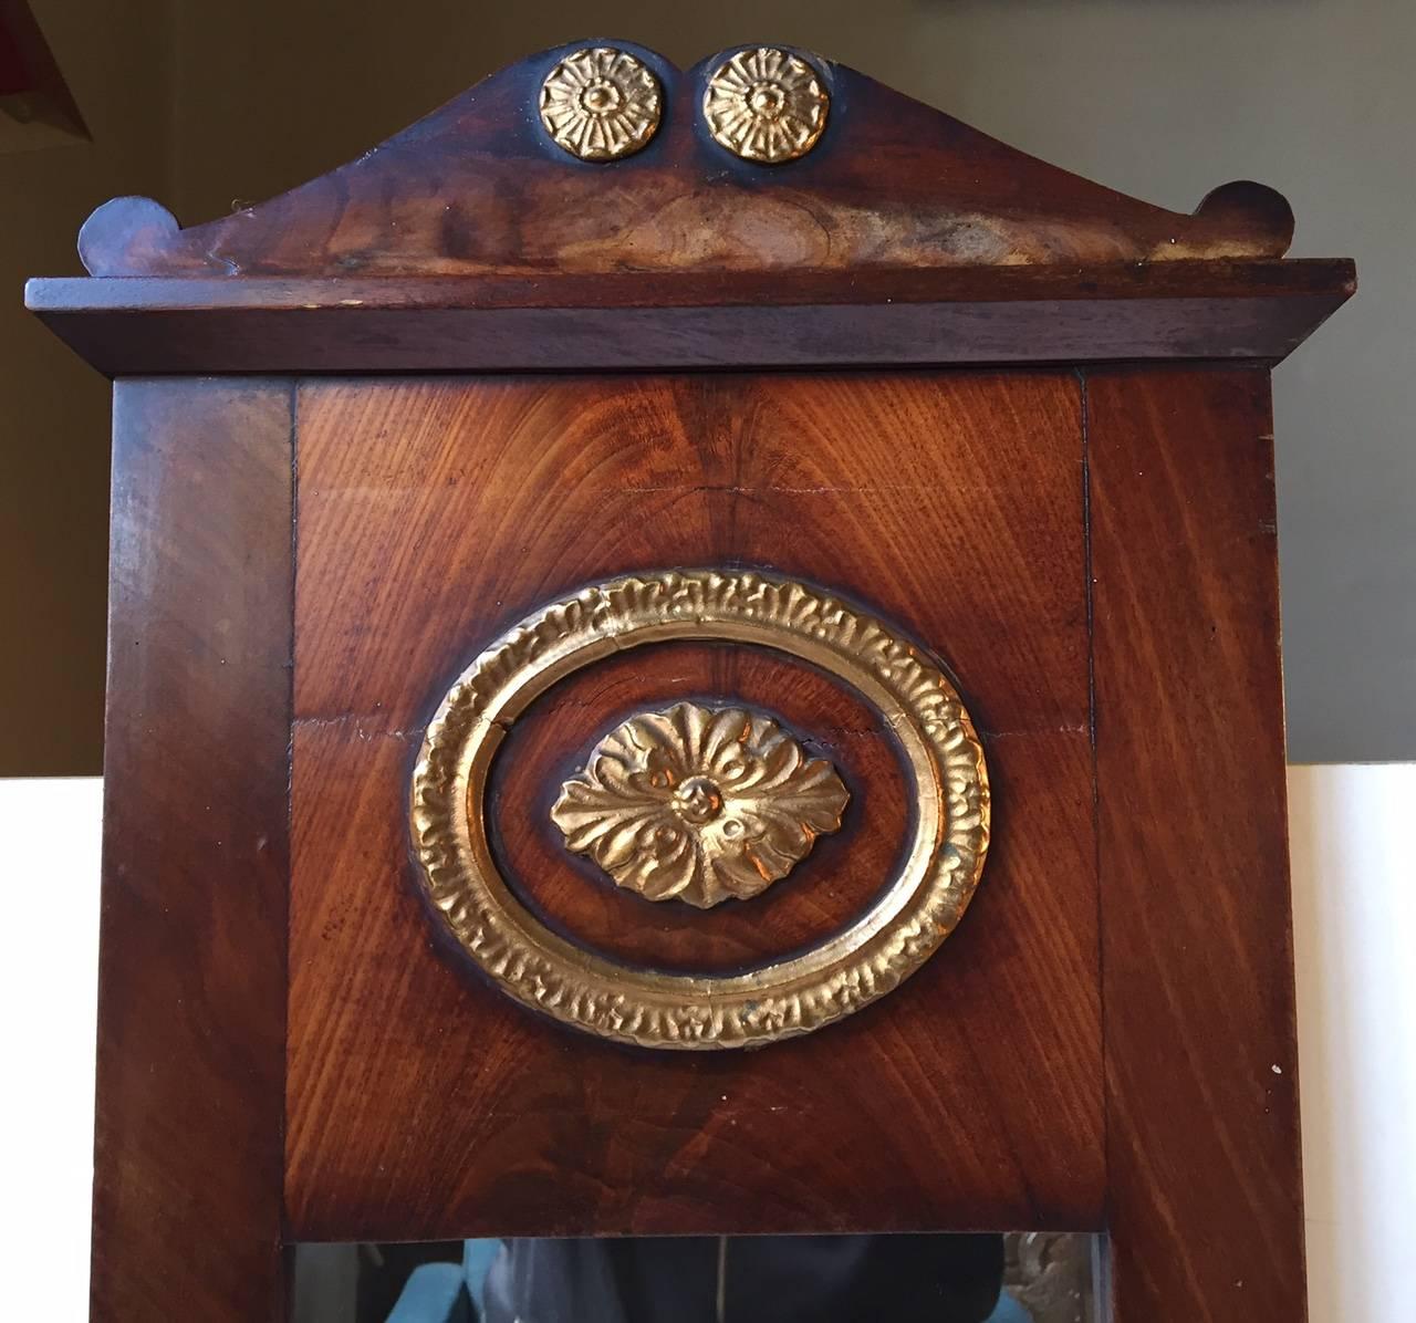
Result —
<path fill-rule="evenodd" d="M 790 110 L 745 139 L 733 61 Z M 1354 288 L 1291 235 L 1262 184 L 1167 211 L 807 51 L 596 41 L 205 225 L 115 198 L 93 279 L 28 297 L 113 375 L 1276 361 Z"/>

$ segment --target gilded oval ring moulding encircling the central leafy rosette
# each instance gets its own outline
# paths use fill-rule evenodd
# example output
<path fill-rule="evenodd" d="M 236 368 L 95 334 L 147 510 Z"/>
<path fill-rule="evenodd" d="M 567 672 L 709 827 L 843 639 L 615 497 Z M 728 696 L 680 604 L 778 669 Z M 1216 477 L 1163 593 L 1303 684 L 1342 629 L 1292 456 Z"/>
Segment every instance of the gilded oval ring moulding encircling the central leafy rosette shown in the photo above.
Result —
<path fill-rule="evenodd" d="M 772 647 L 845 681 L 899 741 L 913 786 L 910 839 L 871 905 L 820 945 L 746 973 L 670 975 L 576 946 L 521 904 L 487 840 L 487 773 L 521 712 L 583 666 L 673 639 Z M 712 792 L 685 789 L 685 812 L 707 816 Z M 758 1047 L 875 1001 L 954 929 L 988 850 L 983 748 L 939 666 L 838 598 L 746 569 L 627 575 L 542 606 L 449 690 L 411 792 L 422 885 L 469 958 L 532 1010 L 643 1047 Z"/>

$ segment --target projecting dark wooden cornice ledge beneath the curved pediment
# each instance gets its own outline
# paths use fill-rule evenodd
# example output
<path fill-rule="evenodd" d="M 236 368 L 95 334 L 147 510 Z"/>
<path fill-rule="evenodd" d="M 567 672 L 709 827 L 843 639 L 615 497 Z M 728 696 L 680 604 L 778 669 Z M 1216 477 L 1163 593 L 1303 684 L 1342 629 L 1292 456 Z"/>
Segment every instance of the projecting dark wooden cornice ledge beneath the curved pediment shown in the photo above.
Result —
<path fill-rule="evenodd" d="M 1347 261 L 421 279 L 45 279 L 25 299 L 129 373 L 569 371 L 1263 358 Z"/>

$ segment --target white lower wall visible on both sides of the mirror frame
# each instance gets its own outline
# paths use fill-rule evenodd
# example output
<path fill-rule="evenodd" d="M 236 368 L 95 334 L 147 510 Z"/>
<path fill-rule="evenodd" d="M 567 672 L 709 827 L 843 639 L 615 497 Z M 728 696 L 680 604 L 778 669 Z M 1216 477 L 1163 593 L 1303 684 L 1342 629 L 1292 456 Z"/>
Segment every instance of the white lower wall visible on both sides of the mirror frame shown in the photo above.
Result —
<path fill-rule="evenodd" d="M 1311 1323 L 1405 1323 L 1416 1319 L 1416 765 L 1293 768 L 1289 788 Z M 0 1092 L 0 1244 L 16 1319 L 68 1323 L 88 1309 L 99 805 L 96 779 L 0 780 L 0 1006 L 14 1068 Z"/>

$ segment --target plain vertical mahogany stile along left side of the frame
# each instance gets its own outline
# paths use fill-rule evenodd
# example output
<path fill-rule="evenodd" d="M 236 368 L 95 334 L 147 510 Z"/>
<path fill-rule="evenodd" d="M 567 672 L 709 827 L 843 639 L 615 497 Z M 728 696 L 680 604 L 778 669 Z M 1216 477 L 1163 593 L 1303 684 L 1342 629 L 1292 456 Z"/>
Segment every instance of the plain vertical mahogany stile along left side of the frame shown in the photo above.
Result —
<path fill-rule="evenodd" d="M 113 428 L 92 1317 L 283 1317 L 289 382 Z"/>

